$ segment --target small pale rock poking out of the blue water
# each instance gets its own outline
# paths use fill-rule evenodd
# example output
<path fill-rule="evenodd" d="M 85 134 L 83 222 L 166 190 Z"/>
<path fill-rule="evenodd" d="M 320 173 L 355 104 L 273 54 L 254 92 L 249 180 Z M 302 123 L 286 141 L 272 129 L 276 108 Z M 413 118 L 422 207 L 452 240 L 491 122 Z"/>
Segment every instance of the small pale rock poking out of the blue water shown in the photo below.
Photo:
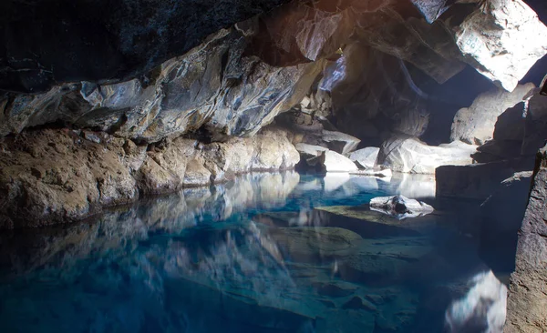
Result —
<path fill-rule="evenodd" d="M 370 200 L 370 209 L 377 210 L 397 219 L 421 217 L 433 212 L 433 207 L 425 202 L 403 196 L 374 197 Z"/>

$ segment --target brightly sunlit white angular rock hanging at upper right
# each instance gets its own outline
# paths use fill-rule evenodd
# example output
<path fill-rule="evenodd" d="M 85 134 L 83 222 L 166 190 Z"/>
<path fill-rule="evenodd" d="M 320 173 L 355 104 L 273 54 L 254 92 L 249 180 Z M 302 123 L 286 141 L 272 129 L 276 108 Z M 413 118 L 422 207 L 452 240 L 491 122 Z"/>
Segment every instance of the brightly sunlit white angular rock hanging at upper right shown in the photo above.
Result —
<path fill-rule="evenodd" d="M 459 25 L 456 43 L 480 74 L 512 91 L 547 54 L 547 26 L 521 0 L 492 0 Z"/>

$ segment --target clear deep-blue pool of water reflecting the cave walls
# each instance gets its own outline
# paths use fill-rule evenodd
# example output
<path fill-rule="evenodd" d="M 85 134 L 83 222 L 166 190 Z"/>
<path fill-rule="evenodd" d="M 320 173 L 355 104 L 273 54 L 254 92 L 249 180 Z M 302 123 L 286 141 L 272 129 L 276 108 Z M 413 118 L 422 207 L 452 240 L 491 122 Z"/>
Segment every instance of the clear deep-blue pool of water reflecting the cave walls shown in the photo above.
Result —
<path fill-rule="evenodd" d="M 413 184 L 254 174 L 3 235 L 0 331 L 500 331 L 506 288 L 455 215 L 364 205 L 434 196 Z"/>

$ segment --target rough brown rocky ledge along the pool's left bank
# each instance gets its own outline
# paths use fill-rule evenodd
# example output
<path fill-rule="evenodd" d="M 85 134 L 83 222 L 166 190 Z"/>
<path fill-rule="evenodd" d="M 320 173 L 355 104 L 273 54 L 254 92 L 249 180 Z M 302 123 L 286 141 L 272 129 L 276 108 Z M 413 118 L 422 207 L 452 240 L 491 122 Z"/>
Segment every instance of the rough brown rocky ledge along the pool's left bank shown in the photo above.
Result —
<path fill-rule="evenodd" d="M 0 141 L 0 228 L 74 222 L 141 196 L 299 160 L 287 133 L 272 126 L 253 138 L 203 144 L 181 136 L 142 146 L 105 133 L 29 131 Z"/>

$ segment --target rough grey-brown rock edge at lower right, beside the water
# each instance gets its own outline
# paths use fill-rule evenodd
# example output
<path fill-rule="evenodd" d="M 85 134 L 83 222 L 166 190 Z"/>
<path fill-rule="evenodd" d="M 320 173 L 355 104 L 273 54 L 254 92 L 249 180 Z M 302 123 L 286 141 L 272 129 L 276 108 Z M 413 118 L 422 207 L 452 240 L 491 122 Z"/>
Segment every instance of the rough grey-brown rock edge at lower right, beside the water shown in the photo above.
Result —
<path fill-rule="evenodd" d="M 536 156 L 532 192 L 517 246 L 516 268 L 511 274 L 504 332 L 547 330 L 547 146 Z"/>

